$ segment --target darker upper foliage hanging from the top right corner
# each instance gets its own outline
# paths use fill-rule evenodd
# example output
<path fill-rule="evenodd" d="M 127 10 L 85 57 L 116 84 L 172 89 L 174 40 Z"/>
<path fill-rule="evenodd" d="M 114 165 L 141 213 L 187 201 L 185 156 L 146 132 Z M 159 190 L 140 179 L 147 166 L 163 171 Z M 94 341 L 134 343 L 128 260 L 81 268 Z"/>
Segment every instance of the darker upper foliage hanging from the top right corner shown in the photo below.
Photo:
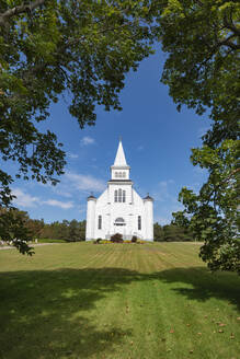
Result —
<path fill-rule="evenodd" d="M 210 112 L 205 144 L 236 139 L 240 113 L 240 4 L 226 0 L 171 0 L 158 22 L 168 53 L 162 82 L 180 109 Z"/>

